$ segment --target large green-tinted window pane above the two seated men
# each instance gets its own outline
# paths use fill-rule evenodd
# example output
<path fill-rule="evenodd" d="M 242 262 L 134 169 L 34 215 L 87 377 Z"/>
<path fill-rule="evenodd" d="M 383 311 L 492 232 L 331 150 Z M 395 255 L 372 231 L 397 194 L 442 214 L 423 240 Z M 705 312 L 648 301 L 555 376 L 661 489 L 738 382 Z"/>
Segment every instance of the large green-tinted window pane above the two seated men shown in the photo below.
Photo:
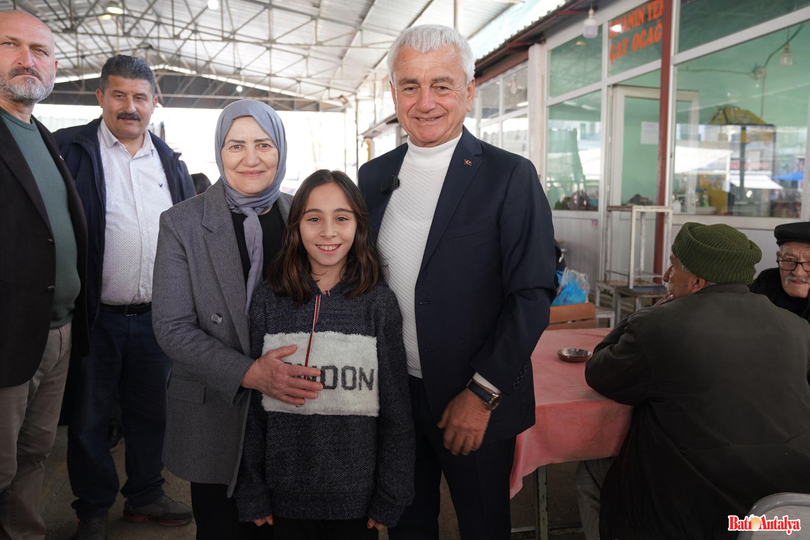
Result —
<path fill-rule="evenodd" d="M 679 90 L 693 96 L 677 108 L 672 188 L 681 211 L 799 219 L 810 100 L 810 57 L 798 53 L 810 50 L 805 30 L 678 67 Z M 792 58 L 782 63 L 787 40 Z"/>

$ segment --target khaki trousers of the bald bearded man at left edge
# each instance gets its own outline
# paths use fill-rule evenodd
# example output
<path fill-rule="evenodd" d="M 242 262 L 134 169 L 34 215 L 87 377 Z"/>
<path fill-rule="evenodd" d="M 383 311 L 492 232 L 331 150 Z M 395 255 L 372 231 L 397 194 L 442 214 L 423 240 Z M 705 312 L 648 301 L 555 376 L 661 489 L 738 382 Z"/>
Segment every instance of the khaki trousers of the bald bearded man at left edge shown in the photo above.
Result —
<path fill-rule="evenodd" d="M 40 367 L 30 381 L 0 388 L 2 540 L 45 538 L 40 495 L 45 459 L 56 438 L 69 362 L 70 322 L 50 330 Z"/>

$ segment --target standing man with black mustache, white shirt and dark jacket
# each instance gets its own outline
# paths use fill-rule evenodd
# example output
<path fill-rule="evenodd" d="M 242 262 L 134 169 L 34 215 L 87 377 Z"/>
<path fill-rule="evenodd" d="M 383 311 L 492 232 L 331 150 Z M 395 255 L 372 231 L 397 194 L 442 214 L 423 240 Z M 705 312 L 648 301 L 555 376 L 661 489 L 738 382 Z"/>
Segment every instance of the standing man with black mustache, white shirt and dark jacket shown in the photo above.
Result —
<path fill-rule="evenodd" d="M 152 270 L 160 213 L 194 197 L 180 155 L 147 130 L 158 98 L 140 58 L 118 54 L 101 69 L 100 118 L 54 137 L 76 181 L 87 227 L 90 354 L 75 359 L 67 471 L 79 540 L 107 538 L 107 512 L 119 490 L 109 453 L 116 394 L 126 440 L 124 517 L 185 525 L 191 510 L 163 489 L 166 387 L 172 360 L 151 324 Z"/>

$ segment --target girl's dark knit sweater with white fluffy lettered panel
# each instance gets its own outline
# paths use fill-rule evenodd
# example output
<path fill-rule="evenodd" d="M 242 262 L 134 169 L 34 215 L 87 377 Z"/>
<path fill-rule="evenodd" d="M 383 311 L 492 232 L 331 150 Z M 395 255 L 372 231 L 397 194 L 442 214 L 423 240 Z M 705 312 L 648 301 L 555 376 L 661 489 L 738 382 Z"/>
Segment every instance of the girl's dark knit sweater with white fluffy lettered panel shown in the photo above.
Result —
<path fill-rule="evenodd" d="M 250 308 L 254 358 L 296 344 L 304 364 L 318 287 L 294 308 L 266 283 Z M 347 298 L 343 283 L 321 296 L 309 365 L 321 368 L 318 399 L 296 408 L 253 392 L 237 487 L 239 519 L 371 517 L 396 525 L 413 498 L 414 432 L 402 316 L 377 285 Z"/>

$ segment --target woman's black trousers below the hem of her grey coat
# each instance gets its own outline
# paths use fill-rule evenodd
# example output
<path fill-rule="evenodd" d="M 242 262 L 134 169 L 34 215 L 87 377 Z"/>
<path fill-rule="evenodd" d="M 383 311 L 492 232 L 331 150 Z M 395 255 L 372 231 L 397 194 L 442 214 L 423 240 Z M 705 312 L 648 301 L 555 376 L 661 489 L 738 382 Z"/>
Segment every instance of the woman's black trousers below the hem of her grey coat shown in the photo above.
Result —
<path fill-rule="evenodd" d="M 191 483 L 191 509 L 197 540 L 274 540 L 273 527 L 239 521 L 237 501 L 225 484 Z"/>

